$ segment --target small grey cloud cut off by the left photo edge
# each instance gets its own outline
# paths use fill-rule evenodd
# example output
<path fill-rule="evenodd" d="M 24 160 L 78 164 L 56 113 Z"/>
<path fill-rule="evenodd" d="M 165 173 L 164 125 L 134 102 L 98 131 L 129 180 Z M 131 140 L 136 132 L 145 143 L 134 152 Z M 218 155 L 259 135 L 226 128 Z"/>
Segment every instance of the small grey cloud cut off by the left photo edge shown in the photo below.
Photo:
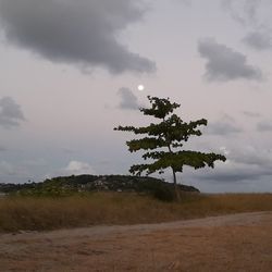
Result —
<path fill-rule="evenodd" d="M 18 126 L 24 120 L 21 107 L 11 97 L 0 99 L 0 126 L 4 128 Z"/>

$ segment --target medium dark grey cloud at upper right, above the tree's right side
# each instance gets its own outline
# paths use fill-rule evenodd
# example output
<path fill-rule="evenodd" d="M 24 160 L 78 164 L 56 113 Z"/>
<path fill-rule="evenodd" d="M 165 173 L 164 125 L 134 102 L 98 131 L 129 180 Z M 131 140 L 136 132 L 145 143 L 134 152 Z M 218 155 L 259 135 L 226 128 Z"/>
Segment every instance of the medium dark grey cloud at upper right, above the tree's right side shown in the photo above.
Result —
<path fill-rule="evenodd" d="M 234 51 L 214 39 L 202 39 L 198 42 L 200 55 L 207 60 L 206 77 L 208 81 L 261 81 L 262 73 L 259 69 L 249 65 L 245 54 Z"/>

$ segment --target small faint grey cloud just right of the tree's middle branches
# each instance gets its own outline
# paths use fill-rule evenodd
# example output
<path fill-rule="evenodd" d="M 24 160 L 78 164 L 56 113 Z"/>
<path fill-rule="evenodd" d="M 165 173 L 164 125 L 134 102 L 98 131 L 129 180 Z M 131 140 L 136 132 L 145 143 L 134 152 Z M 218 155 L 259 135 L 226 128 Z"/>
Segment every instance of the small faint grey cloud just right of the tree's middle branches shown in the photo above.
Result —
<path fill-rule="evenodd" d="M 243 129 L 235 123 L 235 120 L 228 115 L 224 115 L 217 122 L 208 123 L 208 126 L 206 128 L 206 133 L 220 136 L 240 132 L 243 132 Z"/>

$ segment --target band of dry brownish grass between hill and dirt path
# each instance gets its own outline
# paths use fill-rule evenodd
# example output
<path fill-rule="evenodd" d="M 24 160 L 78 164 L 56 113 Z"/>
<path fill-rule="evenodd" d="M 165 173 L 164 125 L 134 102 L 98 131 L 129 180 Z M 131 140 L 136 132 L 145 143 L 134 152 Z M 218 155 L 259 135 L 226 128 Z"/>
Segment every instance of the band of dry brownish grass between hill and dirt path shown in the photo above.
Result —
<path fill-rule="evenodd" d="M 0 198 L 0 232 L 159 223 L 250 211 L 272 211 L 272 194 L 184 194 L 181 202 L 163 202 L 134 193 L 11 196 Z"/>

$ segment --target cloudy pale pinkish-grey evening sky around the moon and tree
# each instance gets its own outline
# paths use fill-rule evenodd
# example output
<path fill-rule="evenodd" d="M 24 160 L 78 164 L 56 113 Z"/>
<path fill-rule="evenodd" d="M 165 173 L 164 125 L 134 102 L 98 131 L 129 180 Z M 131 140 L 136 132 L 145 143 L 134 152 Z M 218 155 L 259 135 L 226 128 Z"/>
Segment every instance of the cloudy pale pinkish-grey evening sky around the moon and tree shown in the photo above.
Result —
<path fill-rule="evenodd" d="M 128 174 L 118 125 L 147 96 L 207 119 L 185 149 L 225 154 L 178 182 L 272 191 L 270 0 L 0 0 L 0 183 Z M 137 88 L 145 86 L 144 90 Z M 172 181 L 170 173 L 161 177 Z"/>

